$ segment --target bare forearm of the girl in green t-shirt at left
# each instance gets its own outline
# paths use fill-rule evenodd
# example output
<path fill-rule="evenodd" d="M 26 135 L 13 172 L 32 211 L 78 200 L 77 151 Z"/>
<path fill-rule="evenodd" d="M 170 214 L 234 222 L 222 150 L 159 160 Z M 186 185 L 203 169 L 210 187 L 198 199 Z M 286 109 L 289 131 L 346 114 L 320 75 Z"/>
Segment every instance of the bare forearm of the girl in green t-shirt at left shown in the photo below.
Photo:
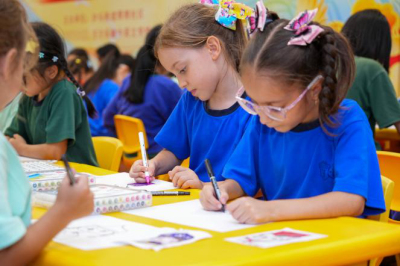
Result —
<path fill-rule="evenodd" d="M 56 144 L 26 144 L 18 150 L 19 155 L 37 158 L 42 160 L 60 160 L 61 156 L 66 153 L 67 147 L 60 147 Z"/>

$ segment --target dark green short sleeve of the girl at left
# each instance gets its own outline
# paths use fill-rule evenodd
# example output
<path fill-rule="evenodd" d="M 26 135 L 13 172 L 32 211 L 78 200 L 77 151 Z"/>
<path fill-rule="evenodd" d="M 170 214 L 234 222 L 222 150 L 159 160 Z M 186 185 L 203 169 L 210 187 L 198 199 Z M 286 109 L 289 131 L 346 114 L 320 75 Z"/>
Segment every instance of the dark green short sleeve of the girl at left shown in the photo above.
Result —
<path fill-rule="evenodd" d="M 59 88 L 53 97 L 45 129 L 46 143 L 58 143 L 63 140 L 71 140 L 74 143 L 76 128 L 82 123 L 80 114 L 83 103 L 79 104 L 80 97 L 67 87 Z"/>

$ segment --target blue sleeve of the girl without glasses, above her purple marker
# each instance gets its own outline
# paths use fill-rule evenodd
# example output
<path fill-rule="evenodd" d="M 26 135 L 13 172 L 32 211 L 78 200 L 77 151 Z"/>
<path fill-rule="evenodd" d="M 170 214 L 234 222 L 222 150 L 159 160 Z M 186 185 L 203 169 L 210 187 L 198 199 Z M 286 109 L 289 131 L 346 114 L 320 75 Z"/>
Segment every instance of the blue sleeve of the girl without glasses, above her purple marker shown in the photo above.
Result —
<path fill-rule="evenodd" d="M 179 160 L 184 160 L 190 155 L 188 110 L 186 110 L 188 98 L 187 92 L 179 100 L 167 122 L 155 137 L 155 141 L 161 147 L 175 154 Z"/>

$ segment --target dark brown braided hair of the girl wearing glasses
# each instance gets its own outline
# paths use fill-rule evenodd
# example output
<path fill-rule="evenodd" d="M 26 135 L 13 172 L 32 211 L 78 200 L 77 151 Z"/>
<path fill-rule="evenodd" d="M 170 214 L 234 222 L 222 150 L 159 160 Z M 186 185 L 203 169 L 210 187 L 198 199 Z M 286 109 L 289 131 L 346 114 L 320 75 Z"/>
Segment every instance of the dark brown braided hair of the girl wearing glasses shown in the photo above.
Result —
<path fill-rule="evenodd" d="M 330 116 L 339 110 L 353 82 L 353 53 L 345 37 L 317 22 L 311 25 L 318 25 L 324 31 L 311 44 L 287 45 L 295 34 L 284 29 L 288 23 L 288 20 L 278 19 L 269 23 L 263 32 L 257 32 L 243 54 L 241 68 L 252 67 L 288 85 L 298 83 L 304 88 L 318 74 L 322 75 L 318 110 L 325 130 L 324 123 L 335 125 Z"/>

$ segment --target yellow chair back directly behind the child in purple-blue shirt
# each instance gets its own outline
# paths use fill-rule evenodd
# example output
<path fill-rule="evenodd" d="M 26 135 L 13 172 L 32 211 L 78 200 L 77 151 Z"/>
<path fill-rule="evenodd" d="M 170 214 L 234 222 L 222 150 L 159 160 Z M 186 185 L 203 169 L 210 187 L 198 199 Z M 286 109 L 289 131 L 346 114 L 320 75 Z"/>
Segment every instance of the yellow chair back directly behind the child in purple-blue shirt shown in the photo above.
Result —
<path fill-rule="evenodd" d="M 122 157 L 122 163 L 125 167 L 130 169 L 136 160 L 142 159 L 139 132 L 143 132 L 146 149 L 149 147 L 144 124 L 142 120 L 126 115 L 115 115 L 114 122 L 117 137 L 123 144 L 124 155 Z M 132 157 L 129 156 L 132 154 L 135 155 Z"/>

